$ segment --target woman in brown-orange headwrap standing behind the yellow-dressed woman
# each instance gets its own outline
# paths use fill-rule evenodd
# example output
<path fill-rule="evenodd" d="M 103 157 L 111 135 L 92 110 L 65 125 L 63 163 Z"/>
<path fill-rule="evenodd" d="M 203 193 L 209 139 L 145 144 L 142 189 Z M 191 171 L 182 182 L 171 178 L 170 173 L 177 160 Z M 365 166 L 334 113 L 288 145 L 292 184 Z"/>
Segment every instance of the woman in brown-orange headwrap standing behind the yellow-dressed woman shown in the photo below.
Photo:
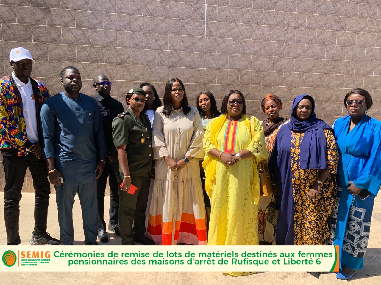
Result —
<path fill-rule="evenodd" d="M 277 135 L 280 127 L 287 124 L 290 119 L 282 118 L 279 116 L 279 111 L 282 110 L 282 101 L 277 95 L 267 94 L 261 103 L 262 110 L 267 115 L 267 119 L 263 120 L 262 127 L 266 139 L 266 147 L 269 155 L 274 147 L 275 136 Z M 270 156 L 269 156 L 270 157 Z M 272 196 L 261 197 L 259 199 L 258 208 L 258 228 L 259 228 L 259 244 L 261 242 L 271 242 L 274 239 L 274 228 L 265 219 L 263 222 L 264 211 L 271 202 Z"/>

